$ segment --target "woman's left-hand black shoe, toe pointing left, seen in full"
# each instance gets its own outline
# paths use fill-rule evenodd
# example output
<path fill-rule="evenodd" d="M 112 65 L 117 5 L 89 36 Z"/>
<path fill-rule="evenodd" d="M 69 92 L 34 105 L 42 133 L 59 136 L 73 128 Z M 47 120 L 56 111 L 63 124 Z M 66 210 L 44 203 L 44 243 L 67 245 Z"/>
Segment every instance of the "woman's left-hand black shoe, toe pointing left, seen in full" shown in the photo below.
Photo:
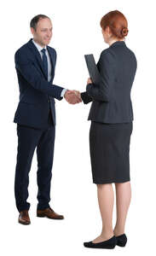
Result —
<path fill-rule="evenodd" d="M 92 241 L 86 241 L 84 242 L 84 247 L 89 247 L 89 248 L 101 248 L 101 249 L 113 249 L 116 246 L 116 237 L 113 236 L 110 239 L 106 241 L 101 241 L 101 242 L 92 242 Z"/>

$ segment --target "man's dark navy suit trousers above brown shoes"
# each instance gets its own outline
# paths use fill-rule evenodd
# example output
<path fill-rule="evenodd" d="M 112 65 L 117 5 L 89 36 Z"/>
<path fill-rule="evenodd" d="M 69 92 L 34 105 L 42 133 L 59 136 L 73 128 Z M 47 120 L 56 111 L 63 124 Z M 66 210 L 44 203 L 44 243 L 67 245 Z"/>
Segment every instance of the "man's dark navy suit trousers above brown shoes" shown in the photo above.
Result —
<path fill-rule="evenodd" d="M 55 125 L 49 115 L 47 129 L 36 129 L 17 124 L 18 148 L 14 179 L 14 195 L 18 211 L 29 210 L 28 198 L 29 172 L 32 157 L 37 148 L 38 159 L 38 209 L 49 207 L 50 182 L 55 146 Z"/>

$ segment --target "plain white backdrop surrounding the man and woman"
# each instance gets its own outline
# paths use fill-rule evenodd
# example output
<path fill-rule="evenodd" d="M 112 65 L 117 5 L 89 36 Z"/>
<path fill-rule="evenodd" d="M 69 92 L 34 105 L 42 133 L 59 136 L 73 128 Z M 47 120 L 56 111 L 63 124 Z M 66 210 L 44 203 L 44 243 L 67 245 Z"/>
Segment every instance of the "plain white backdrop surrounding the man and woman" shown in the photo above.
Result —
<path fill-rule="evenodd" d="M 114 250 L 88 249 L 84 241 L 101 232 L 101 216 L 92 183 L 89 131 L 90 104 L 56 102 L 56 137 L 51 207 L 64 214 L 61 221 L 37 218 L 37 158 L 30 172 L 29 202 L 31 225 L 18 224 L 14 201 L 14 171 L 17 153 L 14 112 L 19 88 L 14 68 L 14 52 L 32 38 L 30 20 L 48 15 L 53 23 L 50 46 L 57 51 L 54 84 L 84 91 L 89 77 L 84 54 L 98 61 L 108 47 L 101 35 L 100 20 L 118 9 L 129 22 L 125 43 L 136 54 L 136 79 L 131 91 L 134 110 L 130 142 L 132 199 L 125 226 L 126 247 Z M 155 251 L 155 8 L 154 1 L 4 1 L 1 3 L 1 247 L 2 255 L 131 255 Z M 114 189 L 114 185 L 113 185 Z M 113 224 L 116 212 L 114 204 Z"/>

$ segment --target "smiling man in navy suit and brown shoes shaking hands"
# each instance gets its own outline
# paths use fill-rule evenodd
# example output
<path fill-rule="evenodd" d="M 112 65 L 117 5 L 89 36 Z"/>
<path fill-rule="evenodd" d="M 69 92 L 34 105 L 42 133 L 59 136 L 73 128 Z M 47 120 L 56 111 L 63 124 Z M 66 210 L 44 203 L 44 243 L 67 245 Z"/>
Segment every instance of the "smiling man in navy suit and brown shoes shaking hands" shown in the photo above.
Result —
<path fill-rule="evenodd" d="M 55 49 L 48 46 L 52 23 L 46 15 L 31 20 L 33 38 L 14 55 L 20 88 L 20 102 L 14 115 L 17 123 L 18 152 L 15 168 L 14 195 L 20 224 L 30 224 L 28 198 L 29 172 L 37 148 L 38 217 L 64 218 L 50 206 L 50 182 L 55 145 L 55 99 L 65 97 L 71 104 L 82 102 L 79 92 L 66 90 L 53 83 Z"/>

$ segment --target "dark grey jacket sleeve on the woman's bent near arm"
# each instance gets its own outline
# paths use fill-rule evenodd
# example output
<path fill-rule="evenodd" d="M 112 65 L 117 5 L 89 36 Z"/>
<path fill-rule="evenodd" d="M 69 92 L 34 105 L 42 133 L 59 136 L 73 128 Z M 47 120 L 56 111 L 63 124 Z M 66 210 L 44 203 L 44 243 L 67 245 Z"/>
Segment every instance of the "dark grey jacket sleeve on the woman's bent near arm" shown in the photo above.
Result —
<path fill-rule="evenodd" d="M 95 101 L 109 102 L 111 100 L 113 86 L 113 56 L 108 51 L 101 53 L 97 63 L 101 74 L 99 84 L 88 84 L 86 91 Z"/>

